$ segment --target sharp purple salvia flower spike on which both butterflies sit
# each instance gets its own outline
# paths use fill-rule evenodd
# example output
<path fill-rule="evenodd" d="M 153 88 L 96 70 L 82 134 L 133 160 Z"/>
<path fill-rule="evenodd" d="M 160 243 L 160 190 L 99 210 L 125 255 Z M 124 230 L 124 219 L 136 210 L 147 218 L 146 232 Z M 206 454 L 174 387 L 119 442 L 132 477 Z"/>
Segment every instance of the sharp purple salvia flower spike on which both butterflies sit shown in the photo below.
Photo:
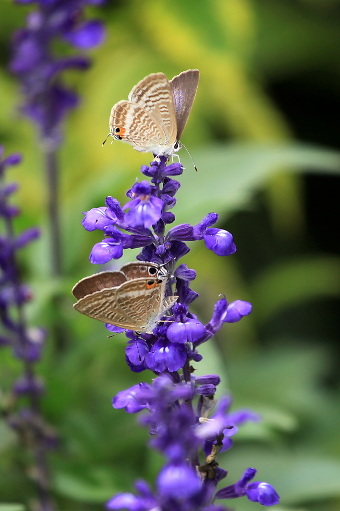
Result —
<path fill-rule="evenodd" d="M 224 323 L 239 321 L 251 312 L 251 304 L 236 300 L 228 303 L 221 297 L 212 318 L 203 324 L 190 312 L 190 304 L 198 294 L 190 288 L 196 272 L 175 262 L 189 252 L 188 241 L 204 243 L 215 254 L 230 255 L 236 251 L 232 235 L 215 227 L 216 213 L 208 213 L 196 225 L 181 224 L 167 229 L 175 221 L 172 208 L 180 183 L 174 179 L 182 172 L 179 163 L 166 165 L 166 158 L 155 158 L 141 172 L 151 182 L 136 182 L 126 193 L 123 206 L 109 196 L 105 206 L 84 213 L 83 226 L 100 230 L 102 241 L 90 254 L 94 264 L 119 259 L 126 248 L 141 247 L 140 261 L 166 265 L 169 275 L 168 294 L 178 296 L 171 316 L 165 315 L 152 334 L 127 331 L 126 362 L 140 373 L 153 371 L 152 385 L 139 383 L 118 392 L 114 408 L 127 413 L 144 411 L 140 422 L 149 428 L 150 445 L 165 457 L 165 464 L 151 490 L 143 480 L 135 483 L 136 494 L 119 493 L 112 497 L 107 509 L 130 511 L 222 511 L 221 499 L 247 496 L 249 500 L 270 506 L 278 503 L 274 488 L 266 482 L 251 482 L 256 470 L 249 468 L 241 479 L 217 491 L 227 475 L 220 468 L 217 455 L 230 449 L 238 427 L 247 421 L 258 421 L 250 410 L 230 411 L 231 399 L 214 399 L 220 383 L 218 375 L 193 375 L 193 362 L 202 356 L 198 347 L 213 337 Z M 174 292 L 172 293 L 172 286 Z M 111 332 L 123 329 L 106 324 Z M 213 409 L 216 406 L 216 411 Z M 219 500 L 219 502 L 216 502 Z"/>

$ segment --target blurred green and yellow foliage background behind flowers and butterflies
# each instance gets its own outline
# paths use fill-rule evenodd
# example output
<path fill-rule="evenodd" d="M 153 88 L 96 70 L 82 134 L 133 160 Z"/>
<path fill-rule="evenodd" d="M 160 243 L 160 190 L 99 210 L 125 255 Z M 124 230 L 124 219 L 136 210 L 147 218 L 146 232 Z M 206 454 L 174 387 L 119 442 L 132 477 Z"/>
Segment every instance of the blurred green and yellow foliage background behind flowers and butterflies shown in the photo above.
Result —
<path fill-rule="evenodd" d="M 39 137 L 17 113 L 16 80 L 6 66 L 12 32 L 30 6 L 0 0 L 0 142 L 23 162 L 8 179 L 19 181 L 16 203 L 23 227 L 41 226 L 41 240 L 21 253 L 23 276 L 34 290 L 32 325 L 50 332 L 39 374 L 45 379 L 46 419 L 60 434 L 49 457 L 60 509 L 96 510 L 117 491 L 143 477 L 152 482 L 162 464 L 146 448 L 147 431 L 136 416 L 114 410 L 119 390 L 151 375 L 125 364 L 123 335 L 107 338 L 99 322 L 72 309 L 70 290 L 102 268 L 88 255 L 100 233 L 87 233 L 82 211 L 141 178 L 150 154 L 121 143 L 101 142 L 110 109 L 141 78 L 162 71 L 168 78 L 200 70 L 200 84 L 182 141 L 186 170 L 177 195 L 177 222 L 198 223 L 210 211 L 234 236 L 238 252 L 219 258 L 203 242 L 185 262 L 198 272 L 192 306 L 210 319 L 220 293 L 249 300 L 253 313 L 228 324 L 202 346 L 197 375 L 218 373 L 219 392 L 234 406 L 249 406 L 263 422 L 241 428 L 233 449 L 219 457 L 226 484 L 247 467 L 273 484 L 278 511 L 340 509 L 338 234 L 340 170 L 340 2 L 338 0 L 111 0 L 88 11 L 102 18 L 108 36 L 92 52 L 85 73 L 65 80 L 82 102 L 65 126 L 59 154 L 64 277 L 50 277 L 46 179 Z M 123 262 L 137 251 L 125 253 Z M 51 306 L 62 294 L 61 310 Z M 62 325 L 57 349 L 53 332 Z M 20 364 L 2 350 L 4 394 Z M 34 496 L 16 437 L 0 423 L 0 501 Z M 245 499 L 238 511 L 259 508 Z"/>

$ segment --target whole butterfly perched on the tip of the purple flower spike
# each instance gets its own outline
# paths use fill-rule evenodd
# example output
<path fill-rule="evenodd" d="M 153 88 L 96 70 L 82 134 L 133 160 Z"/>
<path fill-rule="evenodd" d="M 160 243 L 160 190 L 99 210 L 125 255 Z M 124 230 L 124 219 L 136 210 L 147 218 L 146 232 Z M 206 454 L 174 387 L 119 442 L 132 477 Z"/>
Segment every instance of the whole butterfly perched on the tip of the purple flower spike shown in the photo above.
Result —
<path fill-rule="evenodd" d="M 110 133 L 155 157 L 172 156 L 182 145 L 179 139 L 187 124 L 199 80 L 198 69 L 188 69 L 168 80 L 152 73 L 134 86 L 128 101 L 111 109 Z"/>

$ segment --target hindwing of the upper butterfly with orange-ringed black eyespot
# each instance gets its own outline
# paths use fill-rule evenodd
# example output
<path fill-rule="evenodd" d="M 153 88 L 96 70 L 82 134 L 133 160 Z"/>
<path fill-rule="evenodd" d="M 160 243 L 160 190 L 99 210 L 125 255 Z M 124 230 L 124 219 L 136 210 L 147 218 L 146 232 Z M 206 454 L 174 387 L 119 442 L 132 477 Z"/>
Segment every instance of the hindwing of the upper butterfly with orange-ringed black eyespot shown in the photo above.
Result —
<path fill-rule="evenodd" d="M 119 101 L 112 107 L 109 126 L 112 135 L 119 135 L 137 151 L 152 151 L 166 143 L 161 126 L 144 108 L 129 101 Z M 119 128 L 119 132 L 115 128 Z"/>

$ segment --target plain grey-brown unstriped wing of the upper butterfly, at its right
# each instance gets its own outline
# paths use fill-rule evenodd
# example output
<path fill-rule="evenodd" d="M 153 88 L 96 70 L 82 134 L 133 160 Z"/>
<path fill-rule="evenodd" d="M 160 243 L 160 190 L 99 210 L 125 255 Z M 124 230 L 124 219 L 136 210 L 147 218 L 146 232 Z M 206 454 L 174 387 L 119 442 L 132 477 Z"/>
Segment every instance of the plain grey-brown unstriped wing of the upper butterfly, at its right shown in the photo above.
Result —
<path fill-rule="evenodd" d="M 186 127 L 191 107 L 198 87 L 198 69 L 188 69 L 170 80 L 173 102 L 177 121 L 177 140 L 180 139 Z"/>

